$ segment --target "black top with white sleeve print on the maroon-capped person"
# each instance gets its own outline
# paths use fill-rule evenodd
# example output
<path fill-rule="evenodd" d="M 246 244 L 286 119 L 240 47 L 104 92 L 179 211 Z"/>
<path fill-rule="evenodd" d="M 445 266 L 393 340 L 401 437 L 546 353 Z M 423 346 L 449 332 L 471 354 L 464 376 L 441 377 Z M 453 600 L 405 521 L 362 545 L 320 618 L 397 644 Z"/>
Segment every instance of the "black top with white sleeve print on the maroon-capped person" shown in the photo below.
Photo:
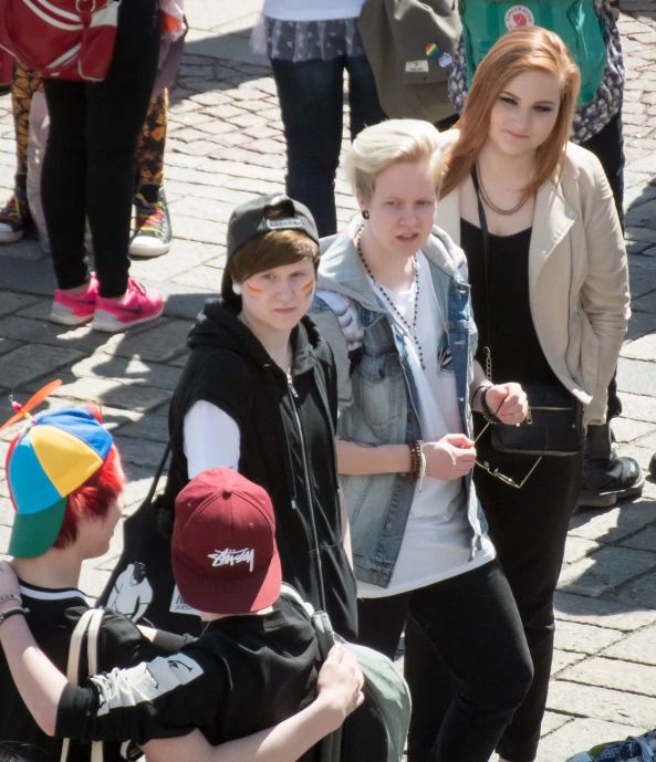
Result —
<path fill-rule="evenodd" d="M 281 597 L 270 614 L 211 622 L 174 656 L 67 686 L 56 734 L 142 744 L 198 727 L 211 744 L 222 743 L 304 709 L 320 666 L 306 614 Z M 314 751 L 302 760 L 313 762 Z"/>

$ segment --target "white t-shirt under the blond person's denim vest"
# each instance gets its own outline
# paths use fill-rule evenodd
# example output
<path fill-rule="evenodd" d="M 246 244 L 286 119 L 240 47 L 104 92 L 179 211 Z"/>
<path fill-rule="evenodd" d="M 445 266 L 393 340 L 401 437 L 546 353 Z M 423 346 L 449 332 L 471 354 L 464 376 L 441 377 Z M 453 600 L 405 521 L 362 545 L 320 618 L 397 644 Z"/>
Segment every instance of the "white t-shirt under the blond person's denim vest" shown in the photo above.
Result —
<path fill-rule="evenodd" d="M 417 345 L 412 335 L 388 307 L 389 314 L 406 334 L 408 361 L 419 398 L 419 421 L 424 441 L 441 439 L 447 434 L 461 434 L 462 421 L 458 410 L 456 377 L 451 366 L 451 353 L 445 322 L 439 312 L 428 260 L 417 252 L 419 264 L 419 304 L 417 312 L 417 340 L 421 346 L 421 368 Z M 369 279 L 371 281 L 371 279 Z M 371 281 L 373 284 L 373 281 Z M 374 284 L 373 284 L 374 285 Z M 377 291 L 378 286 L 374 285 Z M 385 293 L 413 325 L 416 283 L 409 291 Z M 461 479 L 440 481 L 426 478 L 421 491 L 415 488 L 415 497 L 398 560 L 389 587 L 360 582 L 358 595 L 363 598 L 381 598 L 431 585 L 440 580 L 462 574 L 494 557 L 494 547 L 483 540 L 482 550 L 469 561 L 471 526 L 467 520 L 467 505 Z"/>

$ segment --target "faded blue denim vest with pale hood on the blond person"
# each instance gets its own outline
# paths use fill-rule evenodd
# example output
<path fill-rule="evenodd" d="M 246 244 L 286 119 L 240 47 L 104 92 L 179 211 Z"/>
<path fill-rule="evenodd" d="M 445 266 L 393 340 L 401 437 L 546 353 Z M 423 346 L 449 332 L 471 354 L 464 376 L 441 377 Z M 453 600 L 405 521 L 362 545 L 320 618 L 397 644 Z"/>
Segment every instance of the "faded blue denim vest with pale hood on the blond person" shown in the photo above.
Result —
<path fill-rule="evenodd" d="M 403 334 L 391 319 L 364 274 L 353 242 L 362 222 L 355 220 L 350 229 L 330 239 L 330 248 L 322 254 L 317 290 L 312 317 L 329 343 L 340 335 L 336 316 L 321 299 L 321 290 L 348 298 L 356 307 L 364 331 L 360 359 L 350 376 L 339 368 L 352 404 L 341 410 L 337 434 L 346 441 L 360 445 L 405 443 L 421 439 L 417 389 L 413 378 Z M 451 239 L 439 228 L 423 248 L 429 261 L 430 275 L 451 348 L 456 378 L 458 409 L 462 430 L 471 436 L 469 387 L 473 378 L 473 353 L 477 331 L 471 316 L 469 284 L 458 271 L 465 257 Z M 437 330 L 437 326 L 436 326 Z M 333 346 L 337 364 L 346 361 L 344 346 Z M 350 380 L 348 380 L 350 379 Z M 340 477 L 351 519 L 355 576 L 379 587 L 388 587 L 406 523 L 410 513 L 415 486 L 402 473 Z M 471 555 L 481 547 L 487 522 L 476 497 L 471 473 L 464 479 L 457 500 L 466 504 L 471 525 Z"/>

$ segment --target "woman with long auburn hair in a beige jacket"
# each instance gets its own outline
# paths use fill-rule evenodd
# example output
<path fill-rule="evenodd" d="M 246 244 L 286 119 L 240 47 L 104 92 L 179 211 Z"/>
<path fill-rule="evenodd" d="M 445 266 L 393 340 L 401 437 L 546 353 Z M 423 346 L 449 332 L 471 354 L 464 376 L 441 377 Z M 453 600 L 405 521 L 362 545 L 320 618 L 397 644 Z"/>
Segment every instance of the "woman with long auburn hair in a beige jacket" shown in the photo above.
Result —
<path fill-rule="evenodd" d="M 554 33 L 524 28 L 502 36 L 475 74 L 459 132 L 442 135 L 447 154 L 437 221 L 467 255 L 477 356 L 493 383 L 512 378 L 524 388 L 566 390 L 585 426 L 605 420 L 629 293 L 604 170 L 593 154 L 568 142 L 579 81 Z M 477 416 L 477 431 L 483 424 Z M 503 760 L 531 762 L 549 687 L 553 594 L 582 482 L 583 448 L 537 462 L 534 456 L 496 450 L 488 429 L 477 449 L 485 464 L 475 470 L 477 492 L 535 674 L 498 751 Z M 508 476 L 517 487 L 533 467 L 521 489 L 498 478 Z"/>

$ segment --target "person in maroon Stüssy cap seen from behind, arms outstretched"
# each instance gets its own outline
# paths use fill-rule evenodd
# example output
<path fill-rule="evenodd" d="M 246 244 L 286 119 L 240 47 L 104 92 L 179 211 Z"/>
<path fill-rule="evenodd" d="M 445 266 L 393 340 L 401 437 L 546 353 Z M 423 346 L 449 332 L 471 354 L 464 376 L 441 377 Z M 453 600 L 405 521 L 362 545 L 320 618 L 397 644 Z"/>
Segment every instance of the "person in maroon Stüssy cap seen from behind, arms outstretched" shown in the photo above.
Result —
<path fill-rule="evenodd" d="M 281 595 L 275 521 L 267 492 L 231 469 L 200 473 L 176 501 L 171 553 L 183 597 L 208 623 L 201 637 L 174 655 L 127 669 L 110 671 L 105 659 L 106 671 L 81 687 L 69 683 L 62 665 L 53 665 L 39 649 L 23 616 L 6 613 L 3 620 L 0 608 L 2 646 L 41 729 L 83 742 L 134 741 L 149 759 L 174 760 L 189 755 L 189 748 L 171 740 L 149 742 L 186 737 L 196 727 L 210 743 L 223 743 L 293 720 L 299 709 L 309 709 L 305 733 L 294 726 L 294 735 L 285 735 L 285 755 L 261 756 L 262 749 L 254 750 L 258 760 L 292 760 L 301 753 L 304 762 L 319 760 L 319 751 L 310 747 L 362 703 L 363 678 L 353 657 L 336 647 L 329 669 L 342 662 L 351 670 L 348 681 L 355 690 L 340 691 L 337 703 L 334 697 L 322 700 L 325 691 L 320 690 L 314 701 L 316 689 L 325 683 L 319 674 L 320 647 L 301 604 Z M 11 568 L 0 564 L 0 602 L 18 596 L 18 591 Z M 114 614 L 112 618 L 123 619 Z M 241 762 L 251 759 L 239 753 L 235 759 Z M 195 760 L 232 759 L 212 754 L 209 748 L 194 747 Z"/>

